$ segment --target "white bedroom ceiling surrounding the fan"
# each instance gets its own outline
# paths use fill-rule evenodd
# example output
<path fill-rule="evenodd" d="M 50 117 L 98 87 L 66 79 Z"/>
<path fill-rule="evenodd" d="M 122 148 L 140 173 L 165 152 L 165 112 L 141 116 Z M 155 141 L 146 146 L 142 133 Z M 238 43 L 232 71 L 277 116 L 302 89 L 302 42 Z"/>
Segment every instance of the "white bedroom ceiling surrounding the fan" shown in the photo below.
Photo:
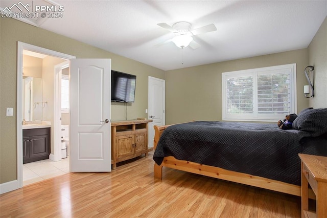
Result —
<path fill-rule="evenodd" d="M 327 1 L 55 2 L 63 17 L 37 26 L 165 71 L 307 48 L 327 16 Z M 174 33 L 157 24 L 178 21 L 217 31 L 194 36 L 195 50 L 158 46 Z"/>

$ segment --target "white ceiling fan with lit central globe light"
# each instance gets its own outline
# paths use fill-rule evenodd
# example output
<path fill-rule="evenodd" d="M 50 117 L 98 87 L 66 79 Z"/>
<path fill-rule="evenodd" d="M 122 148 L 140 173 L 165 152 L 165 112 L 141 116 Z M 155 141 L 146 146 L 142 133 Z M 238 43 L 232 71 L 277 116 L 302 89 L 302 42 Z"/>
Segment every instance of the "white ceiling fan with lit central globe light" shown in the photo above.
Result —
<path fill-rule="evenodd" d="M 185 48 L 190 46 L 192 49 L 197 49 L 200 47 L 200 44 L 193 40 L 192 36 L 199 35 L 202 33 L 212 32 L 216 31 L 217 28 L 214 24 L 209 24 L 197 29 L 192 30 L 192 25 L 189 22 L 186 21 L 179 21 L 173 26 L 170 26 L 166 23 L 160 23 L 157 24 L 158 26 L 169 30 L 172 33 L 175 33 L 175 37 L 172 39 L 169 39 L 166 42 L 172 41 L 175 43 L 175 45 L 179 48 Z M 166 43 L 164 42 L 164 43 Z"/>

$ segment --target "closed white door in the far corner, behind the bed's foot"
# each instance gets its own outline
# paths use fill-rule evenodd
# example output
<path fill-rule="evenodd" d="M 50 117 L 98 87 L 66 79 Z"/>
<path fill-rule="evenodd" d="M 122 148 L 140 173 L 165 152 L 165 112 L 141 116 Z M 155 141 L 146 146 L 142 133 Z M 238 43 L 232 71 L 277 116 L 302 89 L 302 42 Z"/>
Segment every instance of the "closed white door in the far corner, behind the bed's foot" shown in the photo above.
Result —
<path fill-rule="evenodd" d="M 165 125 L 165 80 L 149 76 L 149 148 L 153 147 L 154 125 Z"/>

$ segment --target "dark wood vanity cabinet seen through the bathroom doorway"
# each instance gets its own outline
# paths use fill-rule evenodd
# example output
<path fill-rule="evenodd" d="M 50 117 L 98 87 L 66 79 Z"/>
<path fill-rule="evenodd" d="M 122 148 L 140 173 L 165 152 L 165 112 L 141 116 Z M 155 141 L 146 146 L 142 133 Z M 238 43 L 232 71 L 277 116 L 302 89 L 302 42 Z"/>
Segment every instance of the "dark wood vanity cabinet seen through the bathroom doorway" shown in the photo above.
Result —
<path fill-rule="evenodd" d="M 50 128 L 31 128 L 22 130 L 22 163 L 49 159 Z"/>

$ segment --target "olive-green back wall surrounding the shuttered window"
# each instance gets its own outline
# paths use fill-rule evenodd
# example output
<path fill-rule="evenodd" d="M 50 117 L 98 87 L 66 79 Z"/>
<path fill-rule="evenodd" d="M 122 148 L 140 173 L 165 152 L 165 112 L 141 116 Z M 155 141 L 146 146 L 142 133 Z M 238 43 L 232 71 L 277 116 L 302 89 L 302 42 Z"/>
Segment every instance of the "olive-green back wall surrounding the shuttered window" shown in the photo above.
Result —
<path fill-rule="evenodd" d="M 166 124 L 192 120 L 222 120 L 221 74 L 288 63 L 297 67 L 297 111 L 308 106 L 303 74 L 308 49 L 224 61 L 166 72 Z"/>

